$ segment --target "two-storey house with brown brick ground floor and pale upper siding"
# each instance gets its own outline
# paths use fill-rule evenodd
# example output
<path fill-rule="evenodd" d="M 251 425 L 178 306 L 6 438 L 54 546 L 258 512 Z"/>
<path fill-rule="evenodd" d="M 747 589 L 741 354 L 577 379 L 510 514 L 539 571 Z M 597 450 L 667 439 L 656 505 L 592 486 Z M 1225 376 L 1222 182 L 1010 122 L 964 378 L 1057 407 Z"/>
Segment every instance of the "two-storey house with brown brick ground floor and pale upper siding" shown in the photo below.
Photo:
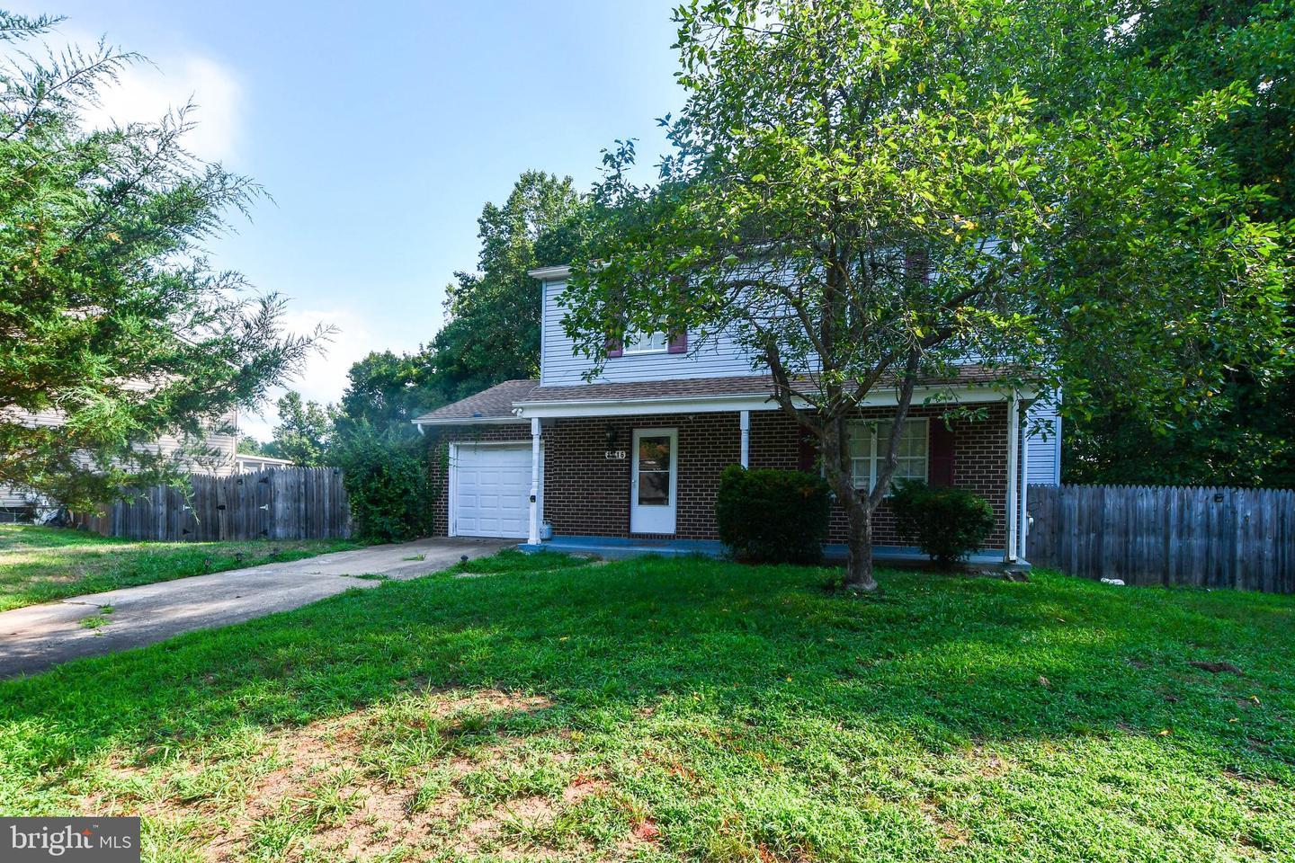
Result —
<path fill-rule="evenodd" d="M 544 298 L 539 380 L 509 380 L 413 421 L 444 442 L 435 533 L 517 538 L 537 549 L 552 525 L 554 547 L 717 549 L 724 467 L 808 470 L 812 448 L 771 400 L 772 379 L 752 373 L 751 357 L 723 336 L 693 348 L 686 334 L 641 338 L 611 352 L 600 377 L 587 380 L 592 361 L 572 351 L 562 327 L 558 295 L 569 273 L 531 272 Z M 1024 558 L 1027 485 L 1055 483 L 1059 441 L 1023 433 L 1032 391 L 992 380 L 983 366 L 965 365 L 956 379 L 926 382 L 913 399 L 896 476 L 984 497 L 997 516 L 985 554 L 1014 564 Z M 922 401 L 939 392 L 983 408 L 983 418 L 934 419 L 941 408 Z M 852 437 L 861 488 L 877 471 L 873 423 L 884 423 L 894 404 L 892 391 L 878 389 L 859 411 Z M 1055 410 L 1036 410 L 1057 428 Z M 844 541 L 846 524 L 837 507 L 829 542 Z M 884 503 L 874 542 L 878 552 L 917 556 L 901 547 Z"/>

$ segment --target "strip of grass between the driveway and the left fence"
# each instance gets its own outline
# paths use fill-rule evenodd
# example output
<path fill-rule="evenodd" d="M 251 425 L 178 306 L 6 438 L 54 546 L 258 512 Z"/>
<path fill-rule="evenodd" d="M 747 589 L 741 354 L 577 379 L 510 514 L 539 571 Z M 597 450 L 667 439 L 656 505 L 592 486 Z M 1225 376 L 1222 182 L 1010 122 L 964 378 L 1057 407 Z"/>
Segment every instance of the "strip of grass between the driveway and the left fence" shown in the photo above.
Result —
<path fill-rule="evenodd" d="M 357 547 L 344 540 L 136 542 L 0 524 L 0 611 Z"/>

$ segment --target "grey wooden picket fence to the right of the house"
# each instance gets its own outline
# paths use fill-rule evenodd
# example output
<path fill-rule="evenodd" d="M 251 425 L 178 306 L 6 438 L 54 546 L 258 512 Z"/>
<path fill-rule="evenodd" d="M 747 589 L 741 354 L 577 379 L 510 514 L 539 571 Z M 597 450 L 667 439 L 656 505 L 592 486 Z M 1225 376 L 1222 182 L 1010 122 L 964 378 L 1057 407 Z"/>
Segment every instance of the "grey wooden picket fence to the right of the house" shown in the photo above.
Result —
<path fill-rule="evenodd" d="M 1295 593 L 1295 490 L 1031 485 L 1026 559 L 1089 578 Z"/>

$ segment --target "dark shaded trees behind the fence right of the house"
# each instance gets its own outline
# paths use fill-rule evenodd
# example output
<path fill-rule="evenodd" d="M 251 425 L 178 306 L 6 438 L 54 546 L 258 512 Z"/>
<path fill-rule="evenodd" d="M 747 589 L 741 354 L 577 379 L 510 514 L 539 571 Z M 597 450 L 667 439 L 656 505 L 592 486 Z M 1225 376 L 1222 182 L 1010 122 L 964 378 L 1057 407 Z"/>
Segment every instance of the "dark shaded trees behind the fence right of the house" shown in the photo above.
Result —
<path fill-rule="evenodd" d="M 1138 3 L 1123 39 L 1109 44 L 1116 62 L 1146 54 L 1180 98 L 1246 87 L 1246 104 L 1211 129 L 1210 142 L 1241 182 L 1267 184 L 1250 215 L 1273 221 L 1295 219 L 1292 12 L 1289 0 Z M 1286 298 L 1291 331 L 1290 283 Z M 1119 386 L 1103 387 L 1090 411 L 1064 426 L 1067 481 L 1295 486 L 1295 370 L 1265 371 L 1232 369 L 1212 410 L 1172 423 L 1149 421 Z"/>

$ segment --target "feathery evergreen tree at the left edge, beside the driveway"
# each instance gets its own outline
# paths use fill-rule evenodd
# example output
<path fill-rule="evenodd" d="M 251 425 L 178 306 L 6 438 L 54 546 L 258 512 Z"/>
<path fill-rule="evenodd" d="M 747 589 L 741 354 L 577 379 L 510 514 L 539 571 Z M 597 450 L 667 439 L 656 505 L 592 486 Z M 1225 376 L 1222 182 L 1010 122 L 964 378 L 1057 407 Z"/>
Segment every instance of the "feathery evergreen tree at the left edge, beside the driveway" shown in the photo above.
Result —
<path fill-rule="evenodd" d="M 139 58 L 100 44 L 31 60 L 21 44 L 57 21 L 0 12 L 0 484 L 79 507 L 177 477 L 326 333 L 284 335 L 281 299 L 211 269 L 203 243 L 260 190 L 185 151 L 189 109 L 80 127 Z M 148 452 L 163 435 L 190 452 Z"/>

